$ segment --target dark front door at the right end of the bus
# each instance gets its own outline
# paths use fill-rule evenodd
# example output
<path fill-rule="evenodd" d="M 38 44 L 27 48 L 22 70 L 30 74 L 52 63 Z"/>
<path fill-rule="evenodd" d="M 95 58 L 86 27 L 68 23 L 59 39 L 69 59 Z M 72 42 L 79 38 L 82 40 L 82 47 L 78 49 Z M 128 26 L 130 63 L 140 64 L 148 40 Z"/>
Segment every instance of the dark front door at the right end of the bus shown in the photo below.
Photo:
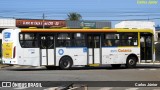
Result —
<path fill-rule="evenodd" d="M 152 34 L 141 33 L 140 38 L 140 53 L 141 62 L 151 62 L 153 59 L 153 41 Z"/>

